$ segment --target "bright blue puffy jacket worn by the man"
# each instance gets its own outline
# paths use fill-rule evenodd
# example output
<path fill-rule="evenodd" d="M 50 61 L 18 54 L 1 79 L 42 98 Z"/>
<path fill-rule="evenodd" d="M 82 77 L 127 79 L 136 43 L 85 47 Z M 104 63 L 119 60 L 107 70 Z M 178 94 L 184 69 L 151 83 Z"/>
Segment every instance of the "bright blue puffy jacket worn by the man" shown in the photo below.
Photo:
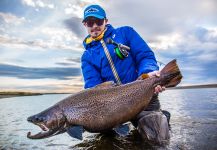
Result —
<path fill-rule="evenodd" d="M 127 45 L 131 49 L 129 56 L 121 60 L 114 52 L 115 46 L 107 44 L 123 84 L 135 81 L 142 73 L 159 70 L 154 53 L 133 28 L 124 26 L 114 29 L 108 24 L 103 39 L 106 41 L 108 38 L 112 38 L 117 43 Z M 105 81 L 116 82 L 100 41 L 86 44 L 84 40 L 83 45 L 86 49 L 81 57 L 81 68 L 85 82 L 84 88 L 90 88 Z"/>

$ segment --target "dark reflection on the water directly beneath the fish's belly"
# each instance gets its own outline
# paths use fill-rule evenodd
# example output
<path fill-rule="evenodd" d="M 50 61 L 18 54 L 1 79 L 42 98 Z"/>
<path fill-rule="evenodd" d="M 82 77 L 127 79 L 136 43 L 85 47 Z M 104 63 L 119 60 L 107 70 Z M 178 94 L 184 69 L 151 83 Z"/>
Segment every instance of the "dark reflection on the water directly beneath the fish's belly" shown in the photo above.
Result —
<path fill-rule="evenodd" d="M 152 145 L 151 143 L 142 140 L 137 130 L 132 130 L 126 137 L 110 134 L 98 134 L 93 139 L 87 139 L 82 143 L 74 145 L 72 149 L 85 150 L 147 150 L 147 149 L 164 149 L 166 146 Z"/>

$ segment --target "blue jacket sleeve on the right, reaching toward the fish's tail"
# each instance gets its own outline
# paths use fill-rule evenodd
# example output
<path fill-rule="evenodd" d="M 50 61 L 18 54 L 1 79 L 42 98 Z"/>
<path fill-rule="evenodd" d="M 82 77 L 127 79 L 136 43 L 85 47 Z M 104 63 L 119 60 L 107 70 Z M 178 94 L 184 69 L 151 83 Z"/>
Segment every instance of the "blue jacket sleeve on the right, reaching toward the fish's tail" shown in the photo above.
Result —
<path fill-rule="evenodd" d="M 131 27 L 128 27 L 127 33 L 127 43 L 131 48 L 130 53 L 136 62 L 138 75 L 159 70 L 155 55 L 147 43 Z"/>

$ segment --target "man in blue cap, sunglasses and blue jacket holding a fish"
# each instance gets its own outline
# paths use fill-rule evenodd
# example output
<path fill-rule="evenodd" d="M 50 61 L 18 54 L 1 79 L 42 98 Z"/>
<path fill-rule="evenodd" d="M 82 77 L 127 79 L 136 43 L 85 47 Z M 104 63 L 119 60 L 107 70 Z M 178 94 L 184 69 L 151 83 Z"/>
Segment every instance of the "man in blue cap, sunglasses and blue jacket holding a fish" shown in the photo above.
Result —
<path fill-rule="evenodd" d="M 84 10 L 83 24 L 89 34 L 83 42 L 86 50 L 81 58 L 84 88 L 91 88 L 106 81 L 125 84 L 140 79 L 141 76 L 159 76 L 154 53 L 133 28 L 113 28 L 108 24 L 106 13 L 99 5 L 90 5 Z M 107 43 L 108 39 L 128 46 L 129 53 L 123 56 L 120 51 L 115 51 L 117 45 Z M 160 85 L 156 86 L 156 95 L 153 96 L 148 108 L 132 121 L 142 137 L 155 142 L 162 142 L 169 137 L 168 123 L 165 123 L 166 117 L 159 111 L 157 96 L 164 89 Z M 167 114 L 169 117 L 169 113 Z M 165 132 L 158 134 L 162 130 L 161 127 Z M 149 129 L 155 133 L 150 133 Z"/>

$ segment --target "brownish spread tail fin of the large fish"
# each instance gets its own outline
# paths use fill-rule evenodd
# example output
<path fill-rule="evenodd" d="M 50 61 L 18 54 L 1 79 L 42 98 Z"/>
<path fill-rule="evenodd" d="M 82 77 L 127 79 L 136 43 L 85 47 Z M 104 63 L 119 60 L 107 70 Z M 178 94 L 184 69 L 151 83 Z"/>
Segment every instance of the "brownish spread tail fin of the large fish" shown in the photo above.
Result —
<path fill-rule="evenodd" d="M 165 87 L 174 87 L 181 82 L 182 74 L 176 59 L 169 62 L 161 71 L 161 84 Z"/>

